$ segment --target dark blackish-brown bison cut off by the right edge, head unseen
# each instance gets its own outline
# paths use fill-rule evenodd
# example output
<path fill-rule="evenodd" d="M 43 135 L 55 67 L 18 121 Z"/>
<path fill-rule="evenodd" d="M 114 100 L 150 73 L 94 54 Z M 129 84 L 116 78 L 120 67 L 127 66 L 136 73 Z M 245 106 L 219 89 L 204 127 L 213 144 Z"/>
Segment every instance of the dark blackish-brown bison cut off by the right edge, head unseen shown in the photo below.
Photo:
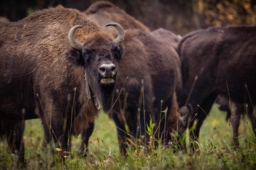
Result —
<path fill-rule="evenodd" d="M 180 106 L 187 103 L 193 106 L 198 123 L 192 137 L 198 138 L 203 120 L 218 94 L 255 106 L 255 41 L 255 26 L 230 26 L 197 30 L 179 42 L 183 85 L 178 101 Z M 255 119 L 253 113 L 253 130 Z"/>

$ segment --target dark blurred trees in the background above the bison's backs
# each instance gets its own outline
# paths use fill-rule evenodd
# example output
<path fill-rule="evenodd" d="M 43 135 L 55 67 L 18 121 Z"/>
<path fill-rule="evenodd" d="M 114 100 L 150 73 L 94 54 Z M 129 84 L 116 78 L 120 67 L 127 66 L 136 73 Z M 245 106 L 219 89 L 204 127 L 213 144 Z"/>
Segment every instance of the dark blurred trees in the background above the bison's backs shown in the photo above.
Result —
<path fill-rule="evenodd" d="M 62 4 L 85 9 L 97 0 L 2 1 L 0 16 L 18 21 L 35 10 Z M 209 26 L 255 25 L 255 0 L 111 0 L 151 30 L 166 28 L 184 35 Z"/>

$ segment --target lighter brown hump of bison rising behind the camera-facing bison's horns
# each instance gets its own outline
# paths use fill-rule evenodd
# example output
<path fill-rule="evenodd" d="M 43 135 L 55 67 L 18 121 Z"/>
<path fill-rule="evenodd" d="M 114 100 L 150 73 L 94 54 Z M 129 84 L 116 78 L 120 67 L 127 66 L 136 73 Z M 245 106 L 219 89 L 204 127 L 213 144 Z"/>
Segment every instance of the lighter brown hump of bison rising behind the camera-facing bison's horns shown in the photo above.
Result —
<path fill-rule="evenodd" d="M 143 23 L 137 21 L 132 16 L 129 16 L 124 10 L 115 6 L 110 1 L 97 1 L 87 8 L 84 13 L 92 21 L 95 21 L 103 30 L 117 35 L 116 31 L 110 28 L 105 28 L 106 23 L 119 23 L 122 25 L 124 30 L 138 28 L 149 32 L 149 28 L 144 26 Z"/>

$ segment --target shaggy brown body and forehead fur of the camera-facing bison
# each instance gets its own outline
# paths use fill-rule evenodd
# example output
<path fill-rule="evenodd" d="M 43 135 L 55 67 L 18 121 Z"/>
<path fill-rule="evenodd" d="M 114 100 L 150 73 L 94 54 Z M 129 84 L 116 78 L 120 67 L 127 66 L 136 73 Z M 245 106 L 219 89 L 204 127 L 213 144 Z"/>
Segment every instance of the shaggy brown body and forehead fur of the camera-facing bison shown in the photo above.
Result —
<path fill-rule="evenodd" d="M 98 112 L 94 101 L 85 95 L 85 69 L 74 67 L 66 58 L 74 50 L 68 32 L 75 25 L 83 26 L 75 33 L 77 40 L 86 40 L 85 44 L 95 45 L 95 50 L 112 49 L 112 35 L 101 33 L 85 13 L 63 6 L 0 24 L 0 120 L 21 120 L 21 111 L 25 111 L 25 120 L 39 117 L 45 142 L 52 135 L 63 151 L 71 147 L 70 135 L 80 133 Z M 92 34 L 101 38 L 100 44 Z M 91 73 L 89 81 L 95 76 Z"/>

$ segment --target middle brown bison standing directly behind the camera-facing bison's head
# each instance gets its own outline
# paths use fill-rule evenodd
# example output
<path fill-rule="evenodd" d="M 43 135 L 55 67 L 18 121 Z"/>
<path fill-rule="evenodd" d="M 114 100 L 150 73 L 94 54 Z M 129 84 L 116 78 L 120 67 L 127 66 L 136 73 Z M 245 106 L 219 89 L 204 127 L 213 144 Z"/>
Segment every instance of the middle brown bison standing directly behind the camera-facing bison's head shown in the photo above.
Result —
<path fill-rule="evenodd" d="M 125 30 L 125 35 L 125 51 L 119 61 L 117 74 L 117 94 L 112 101 L 114 103 L 117 99 L 117 103 L 110 111 L 110 117 L 117 126 L 119 149 L 122 154 L 127 152 L 127 138 L 132 136 L 131 140 L 134 140 L 139 138 L 139 135 L 147 135 L 145 128 L 149 125 L 150 118 L 155 123 L 155 130 L 160 128 L 156 132 L 156 139 L 160 135 L 164 142 L 170 140 L 169 134 L 173 130 L 178 130 L 178 123 L 183 125 L 183 121 L 186 121 L 179 121 L 180 113 L 175 96 L 177 82 L 181 82 L 180 60 L 176 50 L 166 42 L 168 37 L 163 40 L 161 36 L 138 29 Z M 119 96 L 120 91 L 122 93 Z M 166 108 L 168 110 L 165 119 L 161 110 Z M 162 121 L 159 124 L 160 119 Z M 86 146 L 89 138 L 87 132 L 92 132 L 92 129 L 93 126 L 82 133 L 82 142 L 85 142 Z M 84 149 L 82 143 L 80 152 Z"/>

